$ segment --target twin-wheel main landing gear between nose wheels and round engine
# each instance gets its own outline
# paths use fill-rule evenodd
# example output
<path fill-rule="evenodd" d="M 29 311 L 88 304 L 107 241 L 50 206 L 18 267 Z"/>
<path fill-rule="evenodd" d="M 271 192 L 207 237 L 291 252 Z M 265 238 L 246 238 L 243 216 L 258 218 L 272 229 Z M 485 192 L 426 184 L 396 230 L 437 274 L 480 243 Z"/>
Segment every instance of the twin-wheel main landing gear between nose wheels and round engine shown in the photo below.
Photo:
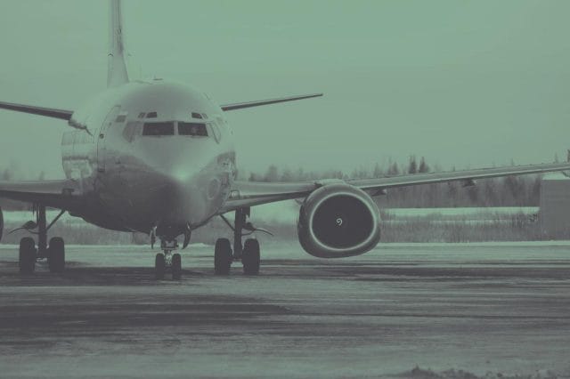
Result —
<path fill-rule="evenodd" d="M 259 241 L 255 238 L 247 238 L 245 244 L 241 244 L 241 238 L 252 234 L 254 231 L 263 231 L 273 236 L 264 229 L 256 229 L 251 222 L 247 222 L 250 214 L 249 208 L 239 208 L 235 211 L 233 225 L 224 215 L 222 219 L 233 230 L 233 253 L 230 240 L 228 238 L 218 238 L 214 251 L 214 272 L 216 275 L 228 275 L 233 261 L 241 261 L 243 273 L 245 275 L 257 275 L 261 255 L 259 251 Z M 247 230 L 247 233 L 243 233 Z"/>

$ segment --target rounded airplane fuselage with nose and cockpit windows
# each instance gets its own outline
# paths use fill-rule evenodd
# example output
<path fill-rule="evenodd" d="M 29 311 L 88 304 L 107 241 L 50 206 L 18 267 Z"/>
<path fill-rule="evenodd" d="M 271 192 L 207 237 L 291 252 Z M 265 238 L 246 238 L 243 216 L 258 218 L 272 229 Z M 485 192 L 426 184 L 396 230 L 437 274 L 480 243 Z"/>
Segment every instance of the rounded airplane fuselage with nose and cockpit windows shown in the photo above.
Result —
<path fill-rule="evenodd" d="M 103 228 L 175 238 L 217 214 L 236 174 L 233 133 L 206 93 L 155 79 L 111 88 L 78 109 L 62 164 Z"/>

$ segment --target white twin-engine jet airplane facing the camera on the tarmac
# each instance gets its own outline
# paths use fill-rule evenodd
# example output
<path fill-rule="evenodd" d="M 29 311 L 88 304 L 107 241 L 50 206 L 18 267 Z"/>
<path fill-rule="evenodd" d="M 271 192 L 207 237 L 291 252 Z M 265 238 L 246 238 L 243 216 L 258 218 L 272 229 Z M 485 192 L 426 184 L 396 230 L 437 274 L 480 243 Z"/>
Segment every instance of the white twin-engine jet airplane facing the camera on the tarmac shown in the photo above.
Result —
<path fill-rule="evenodd" d="M 107 89 L 76 110 L 0 101 L 1 109 L 66 121 L 61 161 L 66 179 L 0 181 L 0 198 L 31 203 L 36 222 L 24 229 L 37 234 L 20 240 L 21 274 L 32 274 L 38 259 L 49 270 L 65 269 L 62 238 L 47 239 L 61 214 L 68 212 L 109 230 L 142 232 L 151 246 L 160 240 L 155 277 L 169 271 L 181 278 L 176 251 L 189 245 L 191 232 L 216 216 L 233 230 L 233 241 L 218 238 L 214 271 L 228 275 L 232 262 L 256 275 L 260 246 L 246 238 L 257 229 L 249 222 L 251 207 L 297 199 L 300 245 L 308 254 L 340 258 L 364 254 L 379 243 L 379 208 L 373 197 L 388 189 L 528 173 L 570 170 L 570 163 L 511 165 L 444 173 L 403 174 L 367 180 L 322 180 L 267 183 L 238 181 L 233 132 L 225 112 L 317 98 L 322 93 L 218 105 L 189 85 L 155 78 L 129 80 L 123 41 L 122 6 L 110 0 Z M 49 224 L 45 208 L 61 210 Z M 233 213 L 233 222 L 225 214 Z M 0 209 L 0 239 L 3 231 Z M 34 231 L 35 230 L 35 231 Z"/>

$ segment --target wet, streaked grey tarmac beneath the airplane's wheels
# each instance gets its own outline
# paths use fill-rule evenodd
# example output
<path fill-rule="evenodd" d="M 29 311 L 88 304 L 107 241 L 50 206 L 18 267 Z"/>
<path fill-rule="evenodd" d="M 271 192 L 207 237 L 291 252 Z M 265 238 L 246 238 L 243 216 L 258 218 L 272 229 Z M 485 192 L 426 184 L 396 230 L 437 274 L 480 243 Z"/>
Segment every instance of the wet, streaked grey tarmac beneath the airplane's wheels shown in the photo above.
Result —
<path fill-rule="evenodd" d="M 264 244 L 256 278 L 190 246 L 180 281 L 154 280 L 155 253 L 68 246 L 62 276 L 22 278 L 0 246 L 0 376 L 570 376 L 567 243 Z"/>

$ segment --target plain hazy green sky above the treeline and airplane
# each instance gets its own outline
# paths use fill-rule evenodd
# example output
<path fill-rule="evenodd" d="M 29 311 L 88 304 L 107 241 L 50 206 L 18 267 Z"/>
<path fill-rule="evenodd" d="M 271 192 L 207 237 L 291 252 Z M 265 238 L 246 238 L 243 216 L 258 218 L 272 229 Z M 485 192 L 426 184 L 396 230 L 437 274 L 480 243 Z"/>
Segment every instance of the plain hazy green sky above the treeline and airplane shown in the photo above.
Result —
<path fill-rule="evenodd" d="M 3 0 L 0 101 L 76 109 L 103 91 L 108 5 Z M 426 157 L 442 168 L 551 162 L 570 148 L 566 0 L 125 1 L 129 74 L 220 103 L 238 165 L 305 171 Z M 0 110 L 0 167 L 61 178 L 65 122 Z"/>

